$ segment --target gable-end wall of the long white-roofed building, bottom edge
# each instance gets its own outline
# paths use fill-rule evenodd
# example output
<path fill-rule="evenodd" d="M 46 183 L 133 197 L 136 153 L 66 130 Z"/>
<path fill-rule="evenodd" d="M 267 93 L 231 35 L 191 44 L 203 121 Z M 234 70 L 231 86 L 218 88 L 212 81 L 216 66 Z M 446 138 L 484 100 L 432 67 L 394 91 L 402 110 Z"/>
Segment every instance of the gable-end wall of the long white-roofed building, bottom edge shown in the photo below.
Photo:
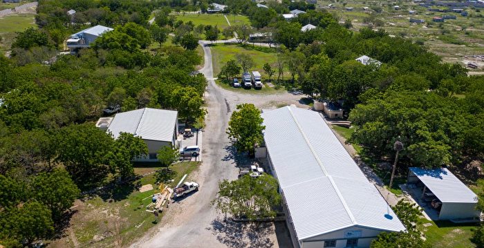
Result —
<path fill-rule="evenodd" d="M 303 240 L 301 248 L 321 248 L 324 247 L 325 240 L 336 240 L 336 247 L 342 248 L 346 247 L 346 240 L 351 237 L 358 239 L 357 247 L 370 247 L 371 241 L 381 232 L 377 229 L 364 227 L 348 227 Z"/>

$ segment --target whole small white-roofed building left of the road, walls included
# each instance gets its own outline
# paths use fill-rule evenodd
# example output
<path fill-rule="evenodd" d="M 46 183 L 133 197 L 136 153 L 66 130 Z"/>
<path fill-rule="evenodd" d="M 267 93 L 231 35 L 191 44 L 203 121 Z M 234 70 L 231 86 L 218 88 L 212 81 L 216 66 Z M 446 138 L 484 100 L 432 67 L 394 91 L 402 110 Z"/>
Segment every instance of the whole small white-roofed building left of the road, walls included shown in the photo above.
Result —
<path fill-rule="evenodd" d="M 178 111 L 140 108 L 116 114 L 108 125 L 106 132 L 111 133 L 115 139 L 120 133 L 131 133 L 145 141 L 149 154 L 136 161 L 156 161 L 162 146 L 176 147 Z"/>

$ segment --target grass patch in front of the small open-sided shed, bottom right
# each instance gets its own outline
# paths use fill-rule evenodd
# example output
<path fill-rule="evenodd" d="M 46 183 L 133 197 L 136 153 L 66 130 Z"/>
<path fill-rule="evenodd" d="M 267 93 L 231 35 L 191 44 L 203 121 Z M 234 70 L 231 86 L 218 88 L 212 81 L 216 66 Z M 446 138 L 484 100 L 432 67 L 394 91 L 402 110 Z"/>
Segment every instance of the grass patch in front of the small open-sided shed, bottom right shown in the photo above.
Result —
<path fill-rule="evenodd" d="M 424 227 L 424 223 L 431 223 L 430 227 Z M 418 229 L 424 231 L 430 247 L 434 248 L 467 248 L 476 247 L 469 239 L 472 237 L 474 224 L 454 224 L 450 221 L 430 221 L 421 219 Z"/>

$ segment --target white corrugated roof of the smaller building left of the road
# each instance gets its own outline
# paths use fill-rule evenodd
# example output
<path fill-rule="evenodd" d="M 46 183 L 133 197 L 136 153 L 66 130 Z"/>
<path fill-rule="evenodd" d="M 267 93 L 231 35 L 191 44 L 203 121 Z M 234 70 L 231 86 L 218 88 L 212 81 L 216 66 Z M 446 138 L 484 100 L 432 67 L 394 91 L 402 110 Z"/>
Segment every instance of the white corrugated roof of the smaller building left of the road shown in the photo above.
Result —
<path fill-rule="evenodd" d="M 108 132 L 114 138 L 120 133 L 132 133 L 143 140 L 171 142 L 175 132 L 177 111 L 157 108 L 140 108 L 135 111 L 118 113 L 109 125 Z"/>

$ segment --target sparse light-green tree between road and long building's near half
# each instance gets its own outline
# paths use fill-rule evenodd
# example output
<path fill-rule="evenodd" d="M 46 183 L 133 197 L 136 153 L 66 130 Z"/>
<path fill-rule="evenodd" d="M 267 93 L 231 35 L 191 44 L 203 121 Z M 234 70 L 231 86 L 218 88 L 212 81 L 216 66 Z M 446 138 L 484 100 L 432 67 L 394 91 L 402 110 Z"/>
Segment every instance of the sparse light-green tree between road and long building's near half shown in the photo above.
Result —
<path fill-rule="evenodd" d="M 251 178 L 243 175 L 239 180 L 218 183 L 218 193 L 212 204 L 218 211 L 232 216 L 246 216 L 250 220 L 274 217 L 274 207 L 281 203 L 277 180 L 271 175 Z"/>

